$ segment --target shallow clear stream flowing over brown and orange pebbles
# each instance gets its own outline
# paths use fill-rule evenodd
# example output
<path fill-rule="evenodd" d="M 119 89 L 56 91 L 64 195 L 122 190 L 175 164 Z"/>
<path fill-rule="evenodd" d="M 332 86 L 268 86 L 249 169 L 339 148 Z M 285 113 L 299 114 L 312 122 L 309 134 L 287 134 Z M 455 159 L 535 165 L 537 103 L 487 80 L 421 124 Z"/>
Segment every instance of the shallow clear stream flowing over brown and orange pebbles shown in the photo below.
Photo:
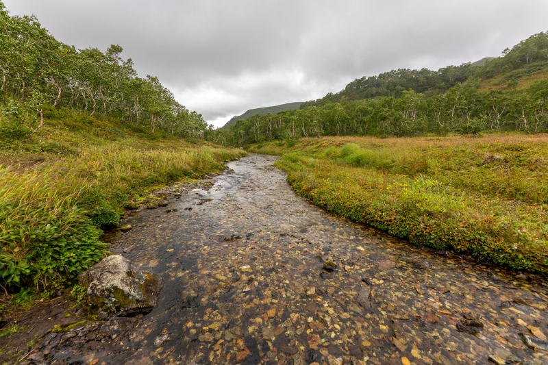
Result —
<path fill-rule="evenodd" d="M 158 307 L 51 333 L 35 362 L 548 364 L 546 282 L 328 214 L 275 159 L 129 218 L 111 251 L 163 277 Z"/>

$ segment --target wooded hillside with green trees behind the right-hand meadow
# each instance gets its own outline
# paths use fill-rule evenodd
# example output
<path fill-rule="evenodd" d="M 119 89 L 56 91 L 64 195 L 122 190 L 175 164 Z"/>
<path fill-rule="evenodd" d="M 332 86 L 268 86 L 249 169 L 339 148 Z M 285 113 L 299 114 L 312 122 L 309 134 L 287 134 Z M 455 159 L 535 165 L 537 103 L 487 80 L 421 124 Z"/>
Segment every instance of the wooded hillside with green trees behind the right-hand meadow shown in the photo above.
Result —
<path fill-rule="evenodd" d="M 216 142 L 245 145 L 311 136 L 423 136 L 548 130 L 548 32 L 484 66 L 397 70 L 362 77 L 299 110 L 238 121 Z"/>

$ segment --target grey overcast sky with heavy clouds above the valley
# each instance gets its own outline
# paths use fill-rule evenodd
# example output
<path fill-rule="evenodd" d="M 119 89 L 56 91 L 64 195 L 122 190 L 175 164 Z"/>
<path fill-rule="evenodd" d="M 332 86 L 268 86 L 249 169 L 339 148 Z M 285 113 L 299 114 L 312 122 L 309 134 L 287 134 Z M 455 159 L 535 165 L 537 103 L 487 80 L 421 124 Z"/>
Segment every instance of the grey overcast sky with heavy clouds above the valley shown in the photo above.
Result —
<path fill-rule="evenodd" d="M 497 57 L 548 30 L 546 0 L 3 1 L 79 49 L 121 45 L 217 127 L 358 77 Z"/>

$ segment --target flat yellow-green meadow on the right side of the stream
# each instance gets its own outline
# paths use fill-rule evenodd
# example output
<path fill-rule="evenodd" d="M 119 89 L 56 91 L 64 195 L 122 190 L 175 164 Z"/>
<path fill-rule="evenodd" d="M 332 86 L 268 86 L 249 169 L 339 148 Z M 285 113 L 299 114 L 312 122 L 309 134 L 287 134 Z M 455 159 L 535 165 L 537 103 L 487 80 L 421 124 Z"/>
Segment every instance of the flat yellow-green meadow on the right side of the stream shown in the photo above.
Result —
<path fill-rule="evenodd" d="M 292 146 L 292 147 L 289 147 Z M 548 136 L 304 138 L 283 155 L 295 191 L 412 244 L 548 274 Z"/>

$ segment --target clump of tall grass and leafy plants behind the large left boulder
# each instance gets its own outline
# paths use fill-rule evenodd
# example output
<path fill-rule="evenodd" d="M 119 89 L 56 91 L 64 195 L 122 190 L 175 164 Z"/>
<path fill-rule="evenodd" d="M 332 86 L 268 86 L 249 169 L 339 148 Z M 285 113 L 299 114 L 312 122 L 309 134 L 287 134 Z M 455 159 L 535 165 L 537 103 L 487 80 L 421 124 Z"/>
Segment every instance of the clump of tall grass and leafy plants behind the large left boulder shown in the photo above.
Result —
<path fill-rule="evenodd" d="M 55 171 L 18 174 L 0 168 L 0 285 L 46 288 L 55 278 L 103 257 L 101 230 L 76 205 L 80 190 L 64 194 Z"/>

